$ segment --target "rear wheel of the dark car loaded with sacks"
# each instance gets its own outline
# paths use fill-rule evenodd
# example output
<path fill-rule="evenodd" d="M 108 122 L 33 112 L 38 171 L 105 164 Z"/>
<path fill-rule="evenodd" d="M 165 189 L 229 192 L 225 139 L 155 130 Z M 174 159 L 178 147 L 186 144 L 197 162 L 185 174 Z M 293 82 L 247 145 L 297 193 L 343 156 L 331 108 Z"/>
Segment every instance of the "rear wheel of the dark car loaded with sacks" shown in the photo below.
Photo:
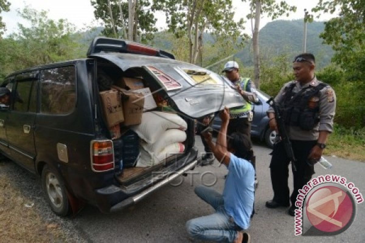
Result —
<path fill-rule="evenodd" d="M 64 180 L 59 173 L 48 165 L 42 170 L 42 188 L 52 211 L 58 216 L 71 213 L 71 205 Z"/>

